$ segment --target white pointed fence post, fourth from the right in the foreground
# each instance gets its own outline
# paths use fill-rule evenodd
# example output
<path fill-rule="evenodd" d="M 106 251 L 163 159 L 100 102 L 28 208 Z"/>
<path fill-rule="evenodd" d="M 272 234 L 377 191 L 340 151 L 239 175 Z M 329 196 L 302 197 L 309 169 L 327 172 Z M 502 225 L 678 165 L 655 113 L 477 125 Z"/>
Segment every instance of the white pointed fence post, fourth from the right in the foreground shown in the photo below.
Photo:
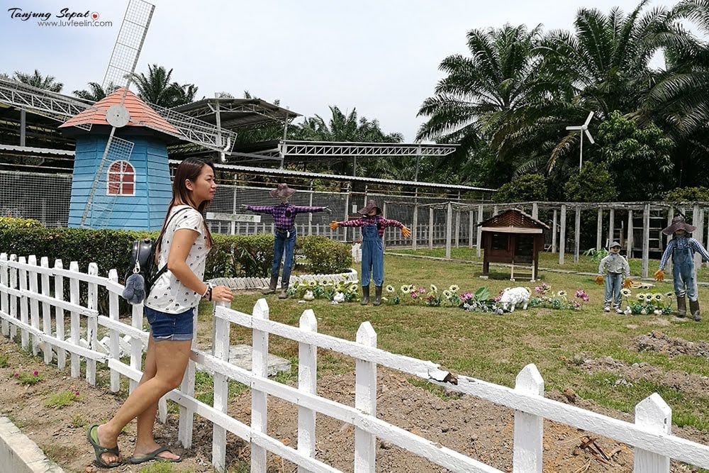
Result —
<path fill-rule="evenodd" d="M 312 309 L 303 312 L 300 319 L 303 332 L 317 332 L 318 320 Z M 317 394 L 318 391 L 318 346 L 298 343 L 298 391 Z M 316 411 L 298 406 L 298 453 L 315 458 Z M 298 467 L 298 473 L 308 469 Z"/>

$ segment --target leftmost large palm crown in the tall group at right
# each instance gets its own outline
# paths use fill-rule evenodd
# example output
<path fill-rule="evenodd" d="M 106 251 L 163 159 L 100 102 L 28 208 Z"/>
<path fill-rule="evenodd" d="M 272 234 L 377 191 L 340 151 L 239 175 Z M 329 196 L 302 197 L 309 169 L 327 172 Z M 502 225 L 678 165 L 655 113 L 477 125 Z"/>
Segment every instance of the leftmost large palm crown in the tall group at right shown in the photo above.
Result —
<path fill-rule="evenodd" d="M 423 101 L 418 116 L 428 121 L 418 130 L 419 140 L 459 143 L 458 160 L 466 161 L 481 140 L 501 145 L 515 111 L 535 99 L 539 57 L 535 48 L 541 26 L 524 25 L 467 34 L 470 56 L 446 57 L 439 69 L 447 77 L 438 82 L 435 96 Z M 501 157 L 502 158 L 502 157 Z"/>

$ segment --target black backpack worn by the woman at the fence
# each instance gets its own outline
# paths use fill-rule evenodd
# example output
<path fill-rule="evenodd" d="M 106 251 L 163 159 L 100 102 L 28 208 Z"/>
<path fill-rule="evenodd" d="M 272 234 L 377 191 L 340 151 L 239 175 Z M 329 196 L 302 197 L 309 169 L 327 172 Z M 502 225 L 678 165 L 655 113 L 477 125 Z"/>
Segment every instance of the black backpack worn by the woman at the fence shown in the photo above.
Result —
<path fill-rule="evenodd" d="M 125 272 L 125 289 L 123 289 L 122 294 L 123 299 L 128 301 L 129 304 L 140 304 L 145 301 L 157 278 L 167 271 L 167 265 L 156 270 L 155 249 L 162 242 L 165 230 L 167 230 L 172 219 L 185 210 L 188 210 L 188 208 L 181 208 L 169 218 L 157 239 L 145 238 L 133 241 L 133 247 L 130 250 L 130 265 L 128 266 L 128 271 Z"/>

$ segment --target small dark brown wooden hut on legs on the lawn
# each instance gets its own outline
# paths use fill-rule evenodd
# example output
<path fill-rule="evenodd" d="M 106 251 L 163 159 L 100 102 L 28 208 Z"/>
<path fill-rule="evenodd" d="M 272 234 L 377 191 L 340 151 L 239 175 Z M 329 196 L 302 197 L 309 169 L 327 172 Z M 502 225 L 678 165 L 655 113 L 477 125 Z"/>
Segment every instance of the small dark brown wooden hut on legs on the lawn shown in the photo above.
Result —
<path fill-rule="evenodd" d="M 484 250 L 483 276 L 490 272 L 490 262 L 510 263 L 510 279 L 515 279 L 515 265 L 531 270 L 537 279 L 539 252 L 544 250 L 544 232 L 549 226 L 516 208 L 498 213 L 478 224 L 482 227 Z"/>

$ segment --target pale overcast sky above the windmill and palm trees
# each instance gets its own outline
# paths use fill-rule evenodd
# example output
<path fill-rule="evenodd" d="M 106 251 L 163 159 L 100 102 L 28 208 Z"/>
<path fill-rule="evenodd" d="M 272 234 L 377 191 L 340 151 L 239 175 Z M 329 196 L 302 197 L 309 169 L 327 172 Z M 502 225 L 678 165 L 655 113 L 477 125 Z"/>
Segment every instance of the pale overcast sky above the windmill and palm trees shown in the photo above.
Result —
<path fill-rule="evenodd" d="M 0 72 L 39 69 L 65 84 L 63 92 L 101 83 L 128 1 L 2 0 Z M 473 28 L 542 23 L 571 30 L 581 6 L 604 12 L 632 0 L 153 0 L 156 5 L 138 72 L 172 68 L 194 83 L 198 97 L 248 90 L 305 116 L 330 116 L 328 105 L 378 119 L 385 133 L 413 141 L 424 99 L 442 78 L 448 55 L 467 53 Z M 675 1 L 654 0 L 652 6 Z M 39 26 L 14 13 L 99 13 L 113 26 Z M 646 7 L 647 8 L 647 7 Z M 80 19 L 80 18 L 79 18 Z M 57 20 L 57 18 L 52 18 Z M 12 46 L 10 46 L 12 45 Z M 298 119 L 300 121 L 300 119 Z"/>

